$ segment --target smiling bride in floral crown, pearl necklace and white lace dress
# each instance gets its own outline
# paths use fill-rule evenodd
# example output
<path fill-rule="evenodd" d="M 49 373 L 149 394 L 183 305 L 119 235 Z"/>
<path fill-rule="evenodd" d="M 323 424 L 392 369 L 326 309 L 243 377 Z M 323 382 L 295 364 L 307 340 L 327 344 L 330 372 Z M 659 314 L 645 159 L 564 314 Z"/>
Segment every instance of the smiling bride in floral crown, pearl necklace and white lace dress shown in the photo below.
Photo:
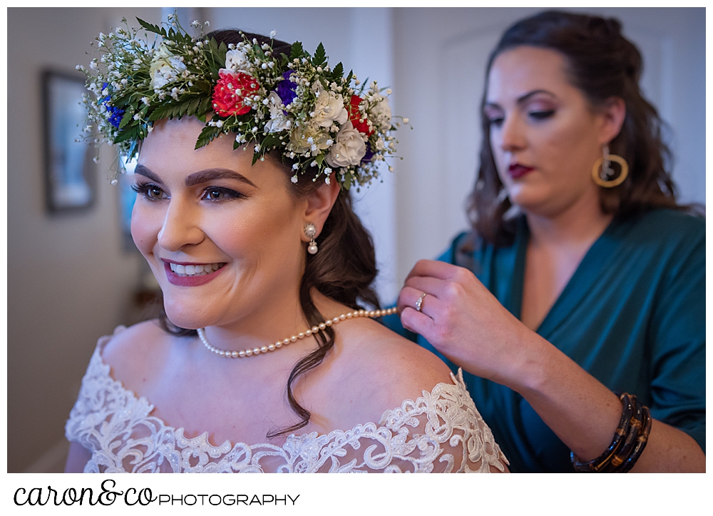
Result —
<path fill-rule="evenodd" d="M 100 35 L 87 103 L 138 154 L 131 232 L 165 312 L 99 340 L 66 471 L 506 471 L 460 375 L 362 308 L 374 249 L 348 188 L 396 130 L 376 84 L 321 45 L 140 23 L 163 42 Z"/>

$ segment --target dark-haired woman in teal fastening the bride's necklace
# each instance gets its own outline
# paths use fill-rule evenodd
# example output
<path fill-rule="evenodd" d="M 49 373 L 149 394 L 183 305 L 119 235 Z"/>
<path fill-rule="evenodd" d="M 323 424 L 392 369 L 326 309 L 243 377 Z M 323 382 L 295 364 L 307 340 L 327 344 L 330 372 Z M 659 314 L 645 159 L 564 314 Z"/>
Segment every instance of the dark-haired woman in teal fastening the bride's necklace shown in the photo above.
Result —
<path fill-rule="evenodd" d="M 615 19 L 508 29 L 473 231 L 416 263 L 389 321 L 467 371 L 515 472 L 705 470 L 705 221 L 675 201 L 641 71 Z"/>

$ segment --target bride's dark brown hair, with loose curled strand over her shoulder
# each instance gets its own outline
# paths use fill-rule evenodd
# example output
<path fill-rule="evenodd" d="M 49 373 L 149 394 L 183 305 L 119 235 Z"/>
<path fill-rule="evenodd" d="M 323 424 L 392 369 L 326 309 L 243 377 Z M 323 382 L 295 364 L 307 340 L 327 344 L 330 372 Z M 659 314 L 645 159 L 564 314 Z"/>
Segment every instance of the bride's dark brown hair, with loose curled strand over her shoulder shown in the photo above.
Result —
<path fill-rule="evenodd" d="M 260 44 L 270 43 L 270 38 L 260 34 L 245 33 L 248 39 L 257 39 Z M 225 44 L 237 44 L 242 40 L 242 36 L 235 30 L 214 31 L 206 35 L 207 38 L 215 38 Z M 280 53 L 290 54 L 290 46 L 284 41 L 273 40 L 272 51 L 278 56 Z M 272 161 L 275 161 L 283 168 L 286 176 L 292 176 L 292 162 L 284 158 L 282 153 L 267 154 Z M 290 192 L 296 198 L 304 198 L 313 193 L 320 186 L 322 181 L 312 181 L 309 174 L 299 174 L 297 183 L 288 183 Z M 299 285 L 299 303 L 310 326 L 317 326 L 324 323 L 325 318 L 319 313 L 312 301 L 312 289 L 318 290 L 339 303 L 354 309 L 371 308 L 378 309 L 379 298 L 371 288 L 371 284 L 376 278 L 376 256 L 374 254 L 374 243 L 366 228 L 361 225 L 361 221 L 352 209 L 352 198 L 345 190 L 339 192 L 337 201 L 332 207 L 332 211 L 324 223 L 322 233 L 317 237 L 319 252 L 311 255 L 307 253 L 307 263 L 302 275 L 302 282 Z M 162 328 L 168 333 L 180 336 L 197 336 L 196 330 L 178 328 L 168 320 L 168 317 L 160 308 L 158 315 Z M 309 410 L 297 403 L 292 393 L 292 385 L 300 375 L 307 373 L 317 367 L 330 349 L 334 346 L 334 329 L 327 326 L 324 330 L 314 334 L 318 347 L 302 359 L 297 361 L 289 373 L 287 379 L 287 400 L 294 413 L 299 416 L 299 422 L 292 426 L 276 429 L 267 434 L 267 438 L 289 434 L 303 428 L 309 423 Z"/>

